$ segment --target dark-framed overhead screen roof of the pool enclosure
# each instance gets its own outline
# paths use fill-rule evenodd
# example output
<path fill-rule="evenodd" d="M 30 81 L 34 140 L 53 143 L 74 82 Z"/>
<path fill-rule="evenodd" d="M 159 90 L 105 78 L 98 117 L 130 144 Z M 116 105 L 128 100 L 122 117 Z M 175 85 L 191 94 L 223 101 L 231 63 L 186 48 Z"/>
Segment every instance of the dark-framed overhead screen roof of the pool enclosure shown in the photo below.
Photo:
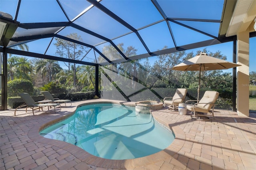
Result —
<path fill-rule="evenodd" d="M 1 0 L 0 10 L 18 22 L 8 47 L 44 42 L 44 49 L 38 53 L 45 51 L 46 55 L 60 57 L 54 42 L 63 39 L 88 50 L 76 60 L 107 65 L 129 61 L 134 56 L 154 56 L 156 51 L 182 50 L 180 46 L 218 38 L 224 3 L 224 0 Z M 71 34 L 77 34 L 78 38 L 70 38 Z M 48 38 L 52 39 L 46 46 Z M 99 56 L 101 59 L 96 61 L 94 58 Z"/>

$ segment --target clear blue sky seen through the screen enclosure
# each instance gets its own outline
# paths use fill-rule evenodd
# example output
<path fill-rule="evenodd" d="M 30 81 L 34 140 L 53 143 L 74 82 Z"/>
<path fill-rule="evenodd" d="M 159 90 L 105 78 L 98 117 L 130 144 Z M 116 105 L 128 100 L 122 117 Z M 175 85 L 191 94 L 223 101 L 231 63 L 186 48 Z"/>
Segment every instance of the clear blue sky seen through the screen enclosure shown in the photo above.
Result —
<path fill-rule="evenodd" d="M 0 11 L 6 12 L 11 14 L 13 17 L 15 16 L 16 7 L 17 7 L 18 0 L 1 0 L 0 1 Z M 82 12 L 85 7 L 89 6 L 90 3 L 86 0 L 60 0 L 64 10 L 70 20 L 75 18 L 80 12 Z M 125 0 L 102 0 L 102 5 L 106 6 L 110 10 L 112 10 L 118 16 L 121 16 L 128 24 L 132 25 L 134 28 L 138 29 L 142 26 L 150 24 L 152 22 L 157 22 L 162 19 L 162 16 L 157 12 L 156 8 L 149 0 L 136 0 L 136 1 L 125 1 Z M 164 12 L 169 17 L 174 18 L 199 18 L 199 19 L 220 19 L 222 6 L 224 0 L 214 0 L 214 1 L 166 1 L 166 0 L 159 0 L 158 3 L 162 6 Z M 176 8 L 174 6 L 182 6 L 182 8 Z M 210 6 L 209 4 L 210 3 Z M 201 9 L 203 6 L 208 5 L 207 12 L 202 15 L 202 13 L 198 13 L 197 10 L 194 9 Z M 172 9 L 170 9 L 171 7 Z M 126 10 L 124 10 L 124 8 Z M 191 12 L 192 10 L 192 12 Z M 47 11 L 47 12 L 46 12 Z M 58 14 L 58 15 L 57 15 Z M 87 14 L 87 13 L 86 13 Z M 188 15 L 189 14 L 189 15 Z M 66 17 L 62 13 L 61 9 L 58 6 L 56 0 L 22 0 L 20 5 L 20 11 L 17 20 L 21 23 L 27 22 L 65 22 Z M 97 24 L 94 22 L 97 21 Z M 108 24 L 110 23 L 111 24 Z M 207 32 L 208 34 L 217 36 L 218 35 L 218 27 L 219 24 L 211 23 L 211 25 L 207 22 L 189 22 L 189 21 L 180 21 L 183 24 L 187 24 L 196 29 L 203 29 L 203 32 Z M 176 43 L 178 46 L 194 43 L 197 41 L 204 41 L 209 40 L 208 36 L 199 34 L 198 32 L 194 32 L 188 28 L 182 27 L 178 24 L 174 24 L 173 22 L 169 22 L 172 31 L 174 33 L 174 37 L 176 38 Z M 105 36 L 106 38 L 112 39 L 120 34 L 127 33 L 129 30 L 124 28 L 124 26 L 120 25 L 120 23 L 114 21 L 109 16 L 106 16 L 102 11 L 98 10 L 97 8 L 92 8 L 89 10 L 88 15 L 84 15 L 78 20 L 75 21 L 75 24 L 80 26 L 84 26 L 85 28 L 92 30 L 98 34 Z M 98 25 L 100 24 L 100 25 Z M 96 25 L 98 28 L 96 28 Z M 154 26 L 139 30 L 140 36 L 144 39 L 145 43 L 147 44 L 150 51 L 157 51 L 158 49 L 162 49 L 164 45 L 167 45 L 168 48 L 174 47 L 174 43 L 171 40 L 170 32 L 166 26 L 166 22 L 160 22 L 155 24 Z M 200 28 L 197 28 L 200 26 Z M 102 29 L 104 27 L 104 29 Z M 206 28 L 211 29 L 206 29 Z M 162 28 L 162 29 L 161 29 Z M 66 30 L 65 30 L 66 29 Z M 65 28 L 59 34 L 65 36 L 72 30 L 70 28 Z M 161 31 L 156 32 L 155 29 L 160 29 Z M 105 32 L 105 30 L 113 30 L 111 34 Z M 23 30 L 22 30 L 23 31 Z M 77 32 L 77 30 L 76 30 Z M 28 34 L 28 33 L 27 33 Z M 88 34 L 81 33 L 85 43 L 98 43 L 100 39 L 92 39 L 91 36 Z M 210 38 L 212 39 L 212 38 Z M 90 42 L 86 42 L 90 41 Z M 94 42 L 93 42 L 94 41 Z M 46 50 L 47 45 L 50 42 L 49 39 L 45 40 L 38 40 L 38 42 L 34 41 L 29 43 L 30 51 L 31 52 L 38 52 L 44 53 Z M 146 53 L 145 48 L 143 47 L 138 37 L 135 33 L 128 34 L 124 37 L 120 37 L 113 40 L 114 43 L 118 44 L 123 42 L 124 48 L 128 47 L 129 45 L 133 45 L 136 49 L 138 49 L 137 54 L 144 54 Z M 191 49 L 187 50 L 187 52 L 193 51 L 196 53 L 198 50 L 202 50 L 206 48 L 208 51 L 216 52 L 220 51 L 223 55 L 227 56 L 227 60 L 232 62 L 232 55 L 233 55 L 233 43 L 222 43 L 218 45 L 211 45 L 208 47 L 202 47 L 198 49 Z M 54 55 L 55 49 L 50 46 L 50 51 L 47 51 L 46 54 Z M 103 45 L 98 45 L 98 49 L 101 51 Z M 38 48 L 40 47 L 40 48 Z M 33 51 L 33 50 L 37 51 Z M 256 71 L 256 38 L 250 38 L 250 70 L 249 71 Z M 150 60 L 154 60 L 155 57 L 150 57 Z M 88 61 L 90 62 L 90 61 Z M 63 67 L 64 65 L 60 63 Z"/>

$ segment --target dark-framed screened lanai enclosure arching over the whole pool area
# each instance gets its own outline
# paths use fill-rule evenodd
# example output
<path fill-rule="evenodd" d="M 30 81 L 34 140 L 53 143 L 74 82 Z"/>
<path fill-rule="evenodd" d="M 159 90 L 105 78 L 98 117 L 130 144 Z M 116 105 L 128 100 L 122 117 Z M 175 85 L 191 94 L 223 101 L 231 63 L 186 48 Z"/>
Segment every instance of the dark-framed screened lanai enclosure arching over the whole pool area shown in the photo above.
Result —
<path fill-rule="evenodd" d="M 161 101 L 176 88 L 188 89 L 186 100 L 196 99 L 198 72 L 172 67 L 201 51 L 236 63 L 237 36 L 230 23 L 238 2 L 1 0 L 2 109 L 8 108 L 8 82 L 14 79 L 28 79 L 37 88 L 52 82 L 66 94 L 94 91 L 103 99 Z M 255 2 L 246 5 L 245 13 Z M 249 36 L 255 37 L 255 30 Z M 210 48 L 222 44 L 229 56 L 219 46 Z M 50 72 L 40 67 L 49 60 L 57 64 Z M 19 65 L 26 61 L 28 68 Z M 216 90 L 217 108 L 236 109 L 236 68 L 201 76 L 201 96 Z"/>

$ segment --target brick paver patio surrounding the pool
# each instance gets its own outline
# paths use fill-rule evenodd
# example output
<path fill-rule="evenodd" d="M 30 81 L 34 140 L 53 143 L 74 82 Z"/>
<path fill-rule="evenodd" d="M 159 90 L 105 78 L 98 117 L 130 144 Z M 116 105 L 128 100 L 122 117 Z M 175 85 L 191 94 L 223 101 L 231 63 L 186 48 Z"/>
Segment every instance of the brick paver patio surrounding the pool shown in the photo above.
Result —
<path fill-rule="evenodd" d="M 107 100 L 73 102 L 57 113 L 35 111 L 33 115 L 30 109 L 27 113 L 19 109 L 14 117 L 14 109 L 0 111 L 0 170 L 256 169 L 256 113 L 242 117 L 236 112 L 216 110 L 210 121 L 198 121 L 168 107 L 152 111 L 153 117 L 170 127 L 176 138 L 161 152 L 131 160 L 98 158 L 72 144 L 39 135 L 42 126 L 72 113 L 76 106 L 97 101 Z"/>

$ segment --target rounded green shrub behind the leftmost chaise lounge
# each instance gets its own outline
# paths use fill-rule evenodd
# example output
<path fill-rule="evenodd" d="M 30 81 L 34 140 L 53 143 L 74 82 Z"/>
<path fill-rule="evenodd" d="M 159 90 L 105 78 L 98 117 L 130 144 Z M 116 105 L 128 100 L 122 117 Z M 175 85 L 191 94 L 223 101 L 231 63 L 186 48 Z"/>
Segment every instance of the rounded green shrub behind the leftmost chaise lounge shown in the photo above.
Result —
<path fill-rule="evenodd" d="M 25 79 L 14 79 L 7 83 L 7 96 L 15 97 L 19 93 L 32 94 L 34 90 L 33 84 L 29 80 Z"/>

